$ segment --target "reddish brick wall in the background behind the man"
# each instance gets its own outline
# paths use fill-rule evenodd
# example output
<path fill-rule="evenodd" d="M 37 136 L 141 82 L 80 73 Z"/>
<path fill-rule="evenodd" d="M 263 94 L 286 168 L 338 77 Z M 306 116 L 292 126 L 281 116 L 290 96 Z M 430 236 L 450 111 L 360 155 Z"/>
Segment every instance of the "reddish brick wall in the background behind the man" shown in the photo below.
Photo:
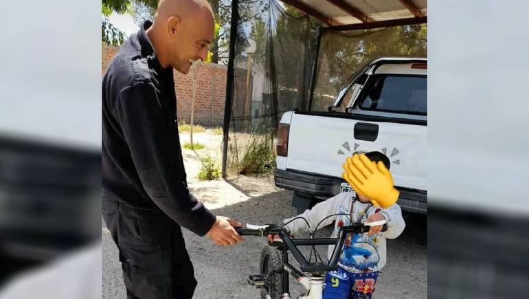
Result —
<path fill-rule="evenodd" d="M 117 47 L 102 45 L 102 71 L 106 69 L 112 57 L 117 52 Z M 222 126 L 224 120 L 224 103 L 226 96 L 225 65 L 208 63 L 195 69 L 196 95 L 194 102 L 194 123 L 204 126 Z M 245 91 L 240 87 L 246 86 L 245 70 L 236 69 L 236 85 L 240 94 L 235 94 L 236 107 L 243 107 Z M 243 76 L 244 74 L 244 76 Z M 193 81 L 191 72 L 184 75 L 179 71 L 174 72 L 175 91 L 177 93 L 177 113 L 179 120 L 190 123 L 191 103 L 193 96 Z M 250 78 L 250 80 L 252 80 Z M 237 114 L 237 113 L 236 113 Z"/>

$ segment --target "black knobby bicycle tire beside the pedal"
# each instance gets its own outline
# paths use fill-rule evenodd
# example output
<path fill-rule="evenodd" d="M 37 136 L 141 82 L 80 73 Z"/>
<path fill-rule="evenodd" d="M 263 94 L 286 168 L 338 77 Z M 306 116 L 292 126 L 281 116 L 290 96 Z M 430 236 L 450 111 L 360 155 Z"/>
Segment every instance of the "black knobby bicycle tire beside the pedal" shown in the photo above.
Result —
<path fill-rule="evenodd" d="M 275 247 L 264 246 L 261 250 L 260 274 L 268 275 L 272 270 L 283 268 L 281 252 Z M 269 295 L 272 299 L 280 299 L 283 291 L 283 279 L 281 274 L 274 274 L 268 280 Z M 261 299 L 266 299 L 267 291 L 261 290 Z"/>

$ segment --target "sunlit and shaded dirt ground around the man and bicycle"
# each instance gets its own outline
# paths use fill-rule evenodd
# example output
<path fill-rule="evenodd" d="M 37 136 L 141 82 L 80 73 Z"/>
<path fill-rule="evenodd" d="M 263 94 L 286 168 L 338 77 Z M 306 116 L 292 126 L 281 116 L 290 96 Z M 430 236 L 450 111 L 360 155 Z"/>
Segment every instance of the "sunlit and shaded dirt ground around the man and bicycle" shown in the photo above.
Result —
<path fill-rule="evenodd" d="M 189 140 L 189 133 L 182 133 L 181 142 Z M 276 188 L 273 177 L 245 177 L 215 181 L 199 181 L 198 155 L 216 157 L 220 166 L 221 135 L 211 131 L 194 133 L 194 142 L 205 144 L 199 151 L 183 149 L 185 170 L 191 192 L 207 208 L 243 223 L 280 223 L 295 215 L 291 206 L 292 192 Z M 426 225 L 425 217 L 405 216 L 407 228 L 396 240 L 387 242 L 387 265 L 381 271 L 373 298 L 426 298 L 427 297 L 427 249 L 424 245 L 426 232 L 419 226 Z M 121 277 L 117 248 L 103 225 L 103 298 L 126 298 Z M 232 247 L 214 245 L 207 237 L 199 237 L 183 230 L 186 246 L 194 263 L 195 277 L 199 285 L 194 298 L 260 298 L 259 291 L 247 284 L 249 274 L 258 274 L 260 251 L 266 241 L 258 237 L 245 237 L 245 241 Z M 330 230 L 321 230 L 318 236 L 326 236 Z M 323 256 L 324 247 L 318 249 Z M 291 258 L 293 265 L 295 260 Z M 297 298 L 303 289 L 291 279 L 291 296 Z"/>

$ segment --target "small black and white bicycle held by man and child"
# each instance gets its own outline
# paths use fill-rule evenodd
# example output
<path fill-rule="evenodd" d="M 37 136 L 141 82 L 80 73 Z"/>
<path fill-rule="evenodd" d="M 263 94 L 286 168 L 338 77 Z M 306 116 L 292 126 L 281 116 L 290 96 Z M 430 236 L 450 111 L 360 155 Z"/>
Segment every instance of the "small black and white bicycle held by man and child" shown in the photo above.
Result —
<path fill-rule="evenodd" d="M 296 217 L 295 219 L 304 218 Z M 306 219 L 304 220 L 306 221 Z M 306 223 L 308 225 L 308 221 Z M 278 234 L 280 236 L 281 241 L 269 241 L 268 245 L 263 247 L 260 258 L 260 274 L 250 275 L 247 280 L 249 285 L 261 289 L 261 299 L 291 299 L 289 291 L 290 275 L 296 278 L 297 282 L 303 285 L 307 291 L 306 294 L 298 296 L 297 299 L 322 299 L 325 274 L 338 269 L 338 260 L 346 236 L 349 233 L 361 234 L 368 232 L 371 226 L 376 225 L 383 225 L 383 232 L 387 230 L 387 224 L 384 220 L 372 223 L 352 223 L 352 225 L 342 226 L 339 229 L 337 238 L 314 238 L 314 232 L 317 227 L 311 231 L 308 239 L 292 239 L 286 228 L 276 224 L 260 226 L 247 224 L 246 227 L 235 228 L 235 230 L 240 236 L 267 237 L 268 234 Z M 313 250 L 315 250 L 315 245 L 335 245 L 328 263 L 324 263 L 322 258 L 320 258 L 320 262 L 315 258 L 315 263 L 311 263 L 312 251 L 311 257 L 307 261 L 298 248 L 298 246 L 313 246 Z M 276 250 L 273 250 L 273 247 Z M 289 251 L 297 263 L 300 263 L 300 269 L 289 263 Z"/>

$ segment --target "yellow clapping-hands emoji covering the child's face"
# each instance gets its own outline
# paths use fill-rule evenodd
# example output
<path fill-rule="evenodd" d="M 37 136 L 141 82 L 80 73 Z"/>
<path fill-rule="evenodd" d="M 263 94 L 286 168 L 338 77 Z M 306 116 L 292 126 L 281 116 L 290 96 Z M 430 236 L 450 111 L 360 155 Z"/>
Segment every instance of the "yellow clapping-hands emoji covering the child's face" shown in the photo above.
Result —
<path fill-rule="evenodd" d="M 344 179 L 357 193 L 370 199 L 375 206 L 389 208 L 398 199 L 390 170 L 382 162 L 374 164 L 365 155 L 348 157 L 344 164 Z"/>

